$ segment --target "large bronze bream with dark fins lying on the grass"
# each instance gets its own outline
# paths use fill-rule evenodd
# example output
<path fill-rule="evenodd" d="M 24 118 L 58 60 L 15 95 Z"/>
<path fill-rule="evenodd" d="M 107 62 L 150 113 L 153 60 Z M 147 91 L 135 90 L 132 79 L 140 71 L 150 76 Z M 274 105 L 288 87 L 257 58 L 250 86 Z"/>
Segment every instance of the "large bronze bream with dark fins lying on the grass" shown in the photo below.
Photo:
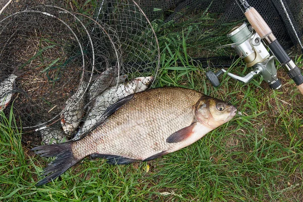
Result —
<path fill-rule="evenodd" d="M 79 140 L 33 148 L 56 157 L 44 170 L 45 184 L 91 156 L 109 164 L 148 161 L 179 150 L 228 122 L 236 108 L 222 100 L 180 87 L 134 93 L 109 107 L 98 127 Z"/>

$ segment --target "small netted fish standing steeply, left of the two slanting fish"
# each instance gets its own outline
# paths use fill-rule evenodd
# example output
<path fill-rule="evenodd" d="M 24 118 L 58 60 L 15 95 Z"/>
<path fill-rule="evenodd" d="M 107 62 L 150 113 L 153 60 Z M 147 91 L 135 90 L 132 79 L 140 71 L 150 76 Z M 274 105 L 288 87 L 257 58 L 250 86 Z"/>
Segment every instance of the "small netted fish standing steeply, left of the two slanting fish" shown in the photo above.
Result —
<path fill-rule="evenodd" d="M 61 114 L 61 125 L 66 134 L 71 134 L 76 130 L 84 115 L 86 86 L 87 83 L 82 81 L 77 92 L 65 102 L 65 108 Z"/>

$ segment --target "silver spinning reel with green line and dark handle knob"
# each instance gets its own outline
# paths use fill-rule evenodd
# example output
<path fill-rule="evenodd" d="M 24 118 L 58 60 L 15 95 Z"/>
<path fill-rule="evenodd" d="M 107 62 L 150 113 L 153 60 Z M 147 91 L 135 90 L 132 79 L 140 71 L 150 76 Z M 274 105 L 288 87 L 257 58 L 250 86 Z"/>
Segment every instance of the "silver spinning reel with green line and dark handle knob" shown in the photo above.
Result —
<path fill-rule="evenodd" d="M 256 75 L 262 75 L 264 81 L 269 84 L 271 89 L 279 89 L 281 87 L 275 67 L 275 56 L 270 55 L 262 43 L 261 37 L 251 26 L 248 26 L 246 23 L 236 26 L 227 34 L 227 37 L 233 41 L 231 47 L 244 60 L 246 66 L 254 68 L 244 77 L 230 72 L 227 73 L 228 76 L 243 83 L 248 83 Z M 206 76 L 217 87 L 220 85 L 218 76 L 225 72 L 225 69 L 221 69 L 216 74 L 208 71 Z"/>

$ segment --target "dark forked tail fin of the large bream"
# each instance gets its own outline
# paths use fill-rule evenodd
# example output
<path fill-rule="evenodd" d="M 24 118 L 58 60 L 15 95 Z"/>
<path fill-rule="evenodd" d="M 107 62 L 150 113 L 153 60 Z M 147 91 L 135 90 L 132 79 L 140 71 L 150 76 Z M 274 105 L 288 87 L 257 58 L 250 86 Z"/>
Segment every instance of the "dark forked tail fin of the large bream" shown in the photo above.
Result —
<path fill-rule="evenodd" d="M 36 186 L 51 182 L 80 161 L 73 157 L 71 145 L 72 142 L 65 142 L 61 144 L 49 144 L 32 148 L 32 150 L 37 150 L 35 154 L 39 154 L 41 157 L 56 157 L 56 159 L 49 163 L 44 169 L 42 176 L 46 176 L 49 173 L 51 174 L 37 182 Z"/>

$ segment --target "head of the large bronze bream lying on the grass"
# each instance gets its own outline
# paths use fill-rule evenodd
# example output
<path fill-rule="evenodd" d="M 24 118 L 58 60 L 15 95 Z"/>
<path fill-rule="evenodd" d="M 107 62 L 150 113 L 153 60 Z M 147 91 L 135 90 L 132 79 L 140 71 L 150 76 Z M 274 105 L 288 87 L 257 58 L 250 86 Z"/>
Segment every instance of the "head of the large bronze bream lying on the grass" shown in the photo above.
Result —
<path fill-rule="evenodd" d="M 236 115 L 237 109 L 220 99 L 203 95 L 196 104 L 195 115 L 198 122 L 217 128 Z"/>

